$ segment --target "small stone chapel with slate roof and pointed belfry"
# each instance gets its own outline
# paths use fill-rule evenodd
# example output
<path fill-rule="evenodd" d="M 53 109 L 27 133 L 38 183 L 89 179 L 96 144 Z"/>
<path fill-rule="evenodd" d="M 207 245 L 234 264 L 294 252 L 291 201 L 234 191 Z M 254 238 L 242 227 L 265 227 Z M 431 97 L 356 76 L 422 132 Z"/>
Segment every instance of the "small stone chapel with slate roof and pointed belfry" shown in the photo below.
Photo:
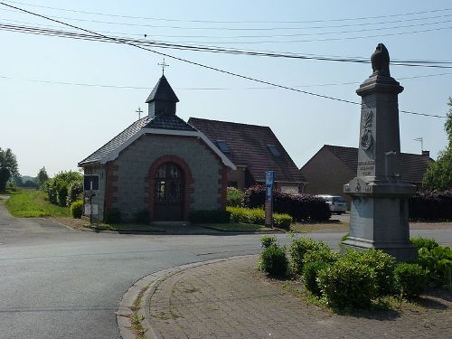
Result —
<path fill-rule="evenodd" d="M 178 101 L 162 76 L 146 100 L 147 116 L 80 161 L 85 175 L 96 178 L 89 187 L 98 188 L 91 198 L 96 219 L 115 211 L 124 221 L 143 212 L 150 221 L 186 221 L 194 210 L 225 209 L 228 170 L 236 166 L 177 117 Z"/>

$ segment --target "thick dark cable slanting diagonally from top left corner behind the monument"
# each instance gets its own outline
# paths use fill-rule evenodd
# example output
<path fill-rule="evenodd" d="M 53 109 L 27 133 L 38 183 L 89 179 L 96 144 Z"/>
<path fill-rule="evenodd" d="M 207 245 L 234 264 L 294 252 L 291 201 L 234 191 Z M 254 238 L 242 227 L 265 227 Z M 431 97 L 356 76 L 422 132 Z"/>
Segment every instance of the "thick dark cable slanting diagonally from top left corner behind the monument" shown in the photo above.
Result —
<path fill-rule="evenodd" d="M 299 93 L 304 93 L 304 94 L 307 94 L 307 95 L 311 95 L 311 96 L 314 96 L 314 97 L 317 97 L 317 98 L 331 99 L 331 100 L 334 100 L 334 101 L 345 102 L 345 103 L 349 103 L 349 104 L 353 104 L 353 105 L 361 105 L 361 103 L 356 102 L 356 101 L 351 101 L 351 100 L 347 100 L 347 99 L 335 98 L 335 97 L 326 96 L 326 95 L 323 95 L 323 94 L 318 94 L 318 93 L 314 93 L 314 92 L 310 92 L 310 91 L 306 91 L 306 90 L 302 90 L 302 89 L 294 89 L 294 88 L 287 87 L 287 86 L 284 86 L 284 85 L 279 85 L 279 84 L 274 83 L 274 82 L 270 82 L 270 81 L 266 81 L 266 80 L 259 80 L 259 79 L 252 78 L 252 77 L 249 77 L 249 76 L 241 75 L 241 74 L 239 74 L 239 73 L 234 73 L 234 72 L 232 72 L 232 71 L 225 71 L 225 70 L 218 69 L 218 68 L 216 68 L 216 67 L 204 65 L 204 64 L 199 63 L 199 62 L 189 61 L 189 60 L 186 60 L 186 59 L 183 59 L 183 58 L 175 57 L 174 55 L 170 55 L 170 54 L 167 54 L 167 53 L 157 52 L 157 51 L 154 51 L 154 50 L 150 50 L 150 49 L 148 49 L 148 48 L 146 48 L 146 47 L 139 46 L 139 45 L 133 44 L 133 43 L 131 43 L 131 42 L 122 42 L 121 40 L 118 40 L 117 38 L 114 38 L 114 37 L 108 37 L 107 35 L 103 35 L 103 34 L 100 34 L 100 33 L 95 33 L 95 32 L 93 32 L 93 31 L 89 31 L 89 30 L 87 30 L 87 29 L 85 29 L 85 28 L 81 28 L 81 27 L 78 27 L 78 26 L 75 26 L 75 25 L 72 25 L 72 24 L 67 24 L 67 23 L 61 22 L 61 21 L 59 21 L 59 20 L 52 19 L 52 18 L 50 18 L 50 17 L 47 17 L 46 15 L 33 13 L 33 12 L 27 11 L 27 10 L 25 10 L 25 9 L 23 9 L 23 8 L 19 8 L 19 7 L 13 6 L 13 5 L 5 4 L 4 2 L 0 2 L 0 5 L 5 5 L 5 6 L 7 6 L 7 7 L 14 8 L 14 9 L 16 9 L 16 10 L 20 10 L 20 11 L 22 11 L 22 12 L 24 12 L 24 13 L 27 13 L 27 14 L 32 14 L 32 15 L 34 15 L 34 16 L 41 17 L 41 18 L 46 19 L 46 20 L 50 20 L 50 21 L 55 22 L 55 23 L 58 23 L 58 24 L 64 24 L 64 25 L 66 25 L 66 26 L 68 26 L 68 27 L 75 28 L 75 29 L 79 29 L 80 31 L 83 31 L 83 32 L 86 32 L 86 33 L 99 35 L 99 36 L 101 36 L 101 37 L 103 37 L 103 38 L 105 38 L 105 39 L 110 39 L 110 40 L 118 41 L 118 42 L 120 42 L 120 43 L 124 43 L 124 44 L 130 45 L 130 46 L 133 46 L 133 47 L 136 47 L 136 48 L 141 49 L 141 50 L 144 50 L 144 51 L 153 52 L 153 53 L 155 53 L 155 54 L 162 55 L 162 56 L 165 56 L 165 57 L 167 57 L 167 58 L 171 58 L 171 59 L 173 59 L 173 60 L 183 61 L 183 62 L 192 64 L 192 65 L 195 65 L 195 66 L 198 66 L 198 67 L 205 68 L 205 69 L 207 69 L 207 70 L 218 71 L 218 72 L 221 72 L 221 73 L 223 73 L 223 74 L 228 74 L 228 75 L 231 75 L 231 76 L 240 78 L 240 79 L 245 79 L 245 80 L 251 80 L 251 81 L 259 82 L 259 83 L 262 83 L 262 84 L 265 84 L 265 85 L 278 87 L 278 88 L 280 88 L 280 89 L 288 89 L 288 90 L 296 91 L 296 92 L 299 92 Z M 419 113 L 419 112 L 412 112 L 412 111 L 405 111 L 405 110 L 401 110 L 400 112 L 407 113 L 407 114 L 412 114 L 412 115 L 417 115 L 417 116 L 424 116 L 424 117 L 446 118 L 446 117 L 441 117 L 441 116 L 436 116 L 436 115 L 430 115 L 430 114 L 426 114 L 426 113 Z"/>

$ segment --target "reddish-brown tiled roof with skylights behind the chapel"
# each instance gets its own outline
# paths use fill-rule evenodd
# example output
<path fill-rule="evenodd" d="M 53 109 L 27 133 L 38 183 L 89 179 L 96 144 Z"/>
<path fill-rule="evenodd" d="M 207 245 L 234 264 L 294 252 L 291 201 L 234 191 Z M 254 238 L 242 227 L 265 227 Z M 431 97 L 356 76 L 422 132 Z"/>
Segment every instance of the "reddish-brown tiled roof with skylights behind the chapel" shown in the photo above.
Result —
<path fill-rule="evenodd" d="M 189 118 L 188 123 L 200 130 L 215 146 L 218 146 L 217 140 L 224 140 L 230 148 L 230 152 L 224 155 L 235 165 L 246 165 L 255 181 L 265 181 L 264 172 L 272 170 L 275 171 L 276 181 L 306 182 L 269 127 L 202 118 Z M 272 155 L 268 145 L 276 146 L 280 156 Z"/>

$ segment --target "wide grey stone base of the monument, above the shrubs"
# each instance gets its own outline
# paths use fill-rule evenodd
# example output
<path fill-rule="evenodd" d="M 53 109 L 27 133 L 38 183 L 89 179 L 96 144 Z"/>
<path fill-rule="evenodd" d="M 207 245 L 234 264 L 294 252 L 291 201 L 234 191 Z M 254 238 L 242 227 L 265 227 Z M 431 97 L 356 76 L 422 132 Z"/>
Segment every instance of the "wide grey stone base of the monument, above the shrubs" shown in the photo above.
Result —
<path fill-rule="evenodd" d="M 407 199 L 353 196 L 350 233 L 342 244 L 355 250 L 383 250 L 400 261 L 415 259 Z"/>

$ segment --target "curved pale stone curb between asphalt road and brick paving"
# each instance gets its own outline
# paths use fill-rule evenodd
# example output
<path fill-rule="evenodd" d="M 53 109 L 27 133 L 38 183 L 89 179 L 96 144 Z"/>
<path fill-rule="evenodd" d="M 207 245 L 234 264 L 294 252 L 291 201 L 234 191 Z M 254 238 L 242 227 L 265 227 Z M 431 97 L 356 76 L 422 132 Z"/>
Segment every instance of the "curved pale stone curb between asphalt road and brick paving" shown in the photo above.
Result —
<path fill-rule="evenodd" d="M 233 259 L 253 257 L 254 255 L 235 256 L 225 259 L 213 259 L 208 261 L 194 262 L 191 264 L 176 266 L 174 268 L 166 268 L 161 271 L 150 274 L 144 278 L 139 279 L 134 285 L 128 288 L 126 294 L 122 297 L 118 306 L 117 315 L 119 334 L 123 339 L 136 339 L 137 335 L 132 330 L 132 315 L 137 314 L 140 318 L 140 324 L 145 331 L 146 339 L 162 339 L 162 336 L 155 331 L 152 317 L 148 312 L 148 301 L 154 295 L 156 288 L 175 274 L 181 273 L 184 270 L 197 268 L 203 265 L 212 265 L 222 261 L 229 261 Z M 141 297 L 141 305 L 137 309 L 135 304 L 139 295 Z"/>

